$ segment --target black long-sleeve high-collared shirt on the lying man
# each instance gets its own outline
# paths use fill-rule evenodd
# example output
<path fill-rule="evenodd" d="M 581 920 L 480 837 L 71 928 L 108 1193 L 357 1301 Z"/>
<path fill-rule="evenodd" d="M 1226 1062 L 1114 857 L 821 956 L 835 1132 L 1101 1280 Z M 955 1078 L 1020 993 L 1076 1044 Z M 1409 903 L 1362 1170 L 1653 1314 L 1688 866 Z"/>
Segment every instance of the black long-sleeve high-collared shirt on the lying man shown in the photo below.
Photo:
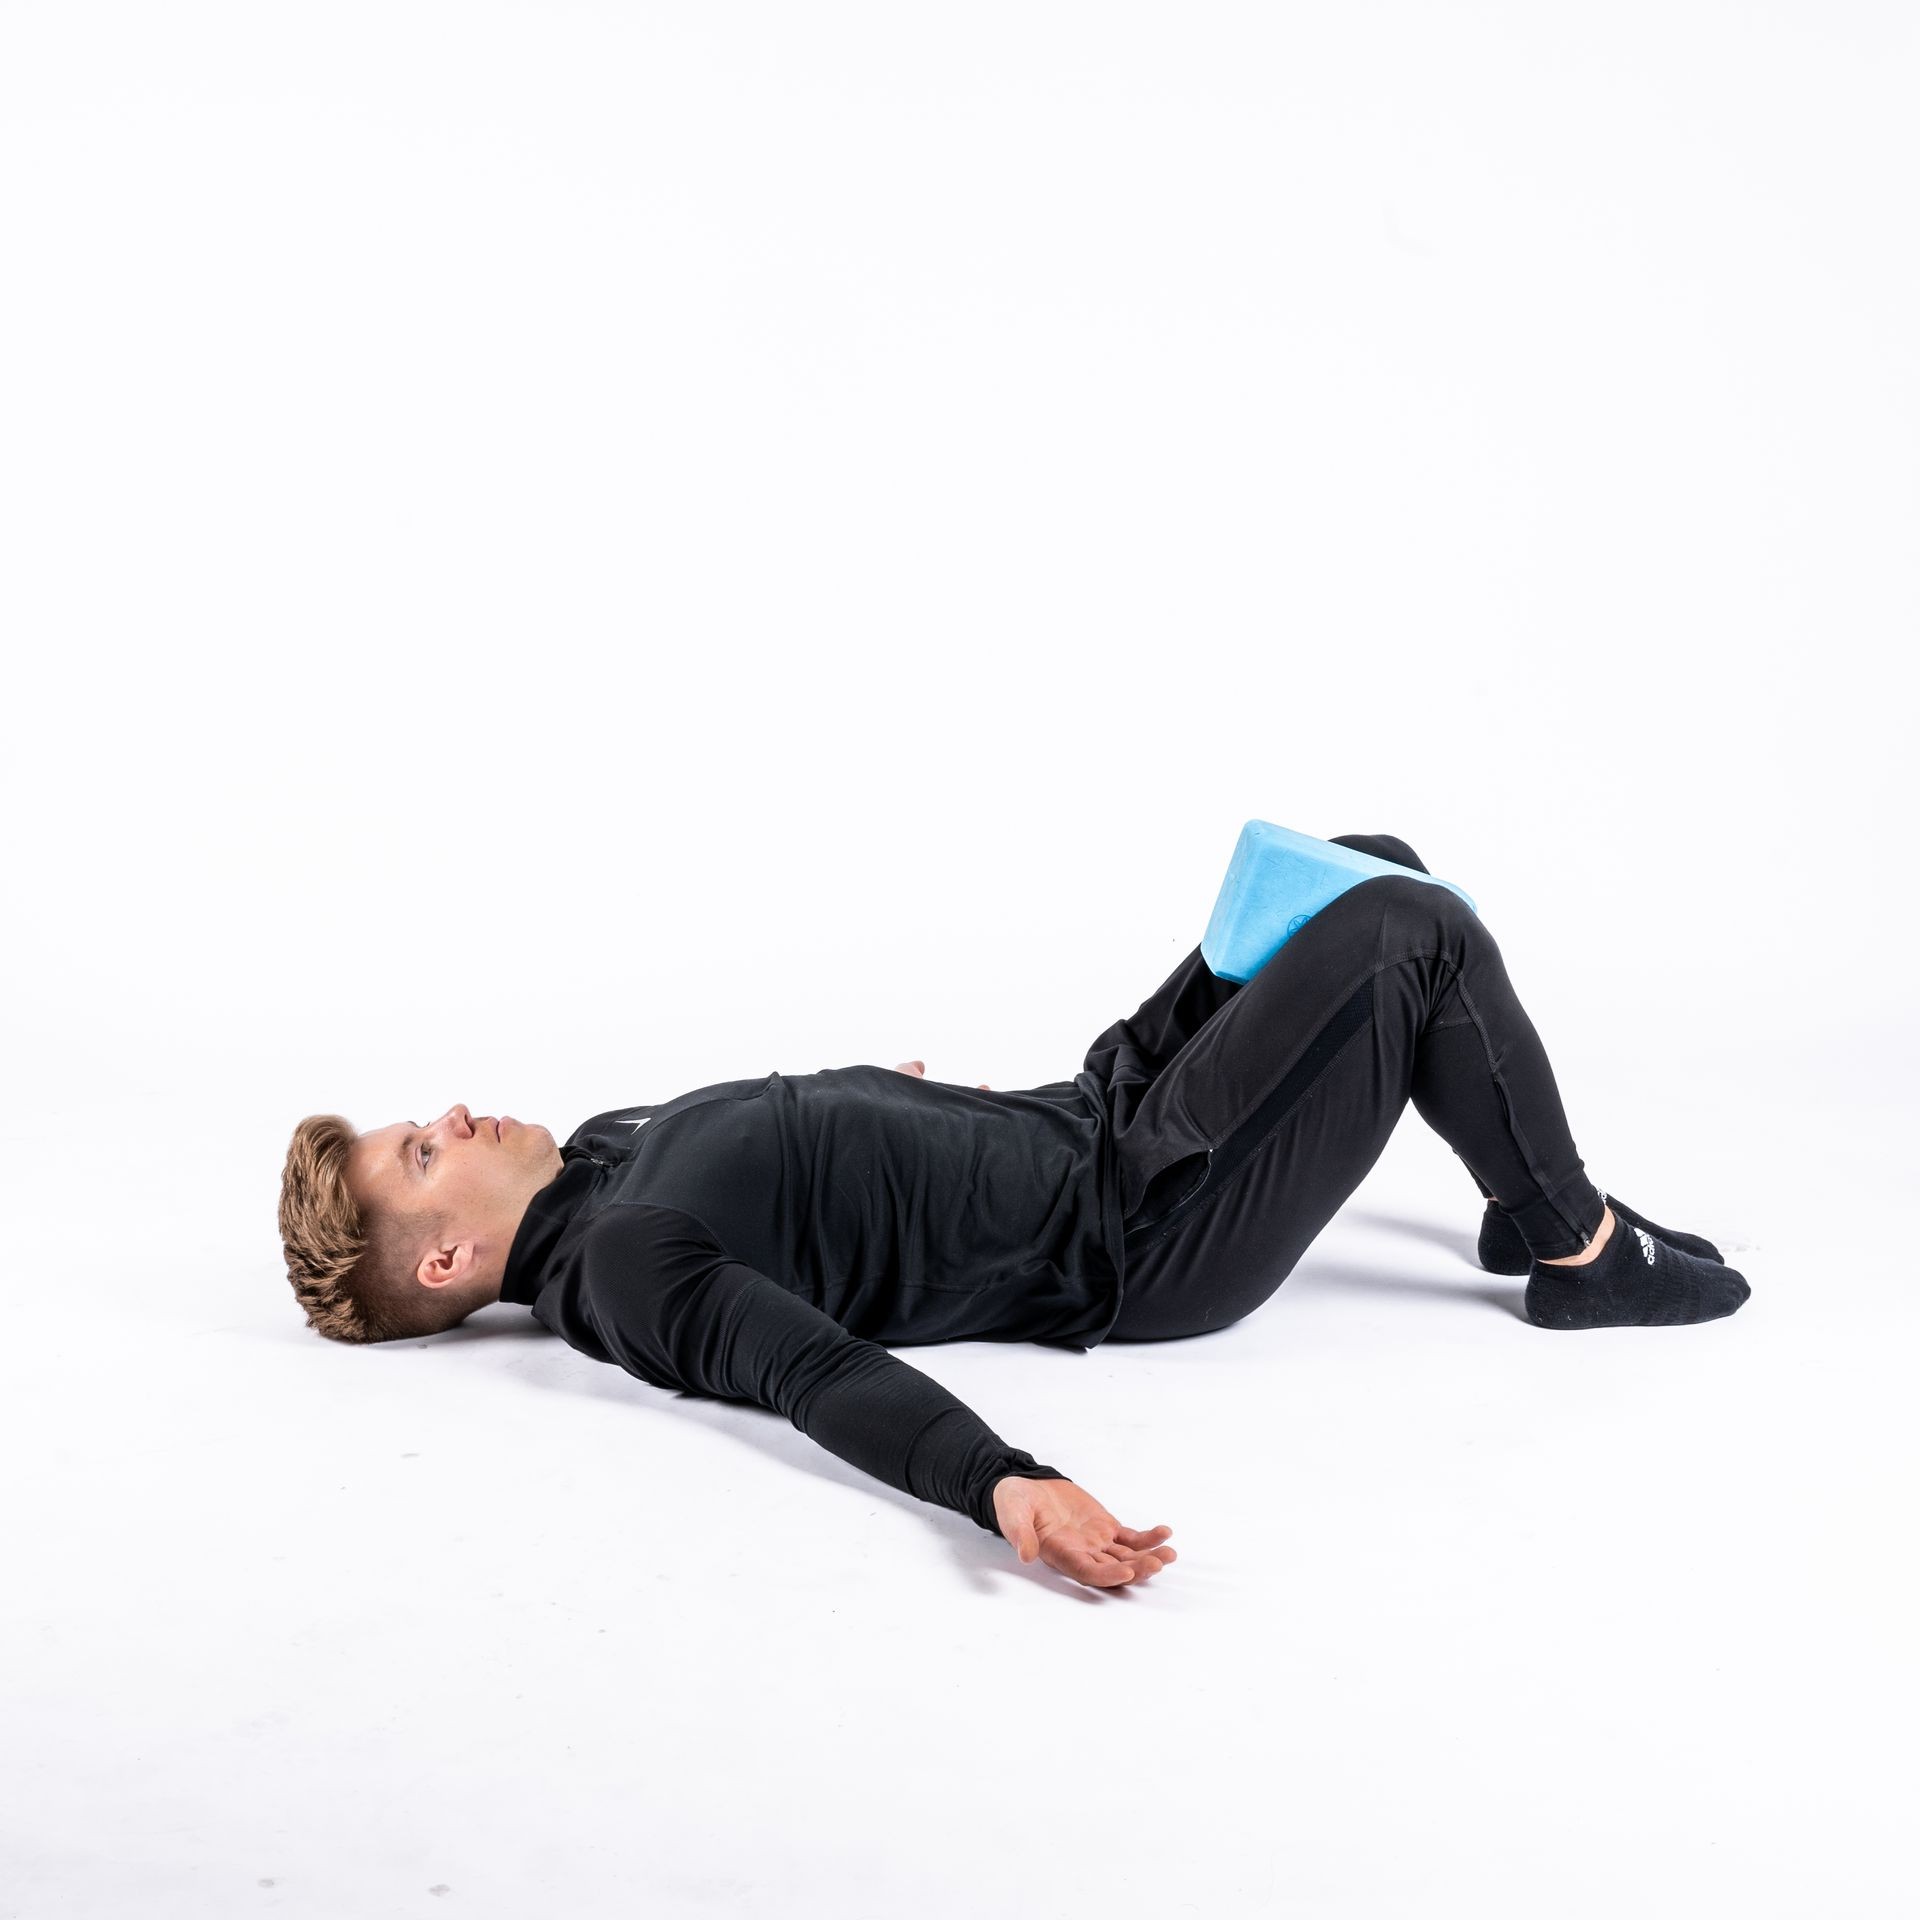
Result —
<path fill-rule="evenodd" d="M 1119 1315 L 1098 1083 L 987 1091 L 893 1068 L 699 1087 L 580 1125 L 501 1298 L 653 1386 L 745 1400 L 996 1534 L 1010 1448 L 883 1342 L 1089 1348 Z"/>

